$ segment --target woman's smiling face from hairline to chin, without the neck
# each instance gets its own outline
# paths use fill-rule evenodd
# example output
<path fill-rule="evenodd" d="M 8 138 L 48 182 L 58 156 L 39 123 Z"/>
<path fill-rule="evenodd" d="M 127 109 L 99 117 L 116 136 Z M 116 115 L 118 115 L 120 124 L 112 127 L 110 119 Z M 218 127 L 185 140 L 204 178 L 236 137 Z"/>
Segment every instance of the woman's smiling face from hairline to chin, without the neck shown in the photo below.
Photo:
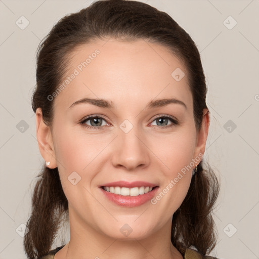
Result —
<path fill-rule="evenodd" d="M 107 40 L 80 46 L 69 59 L 52 95 L 52 149 L 42 156 L 58 166 L 70 229 L 140 239 L 170 223 L 183 202 L 205 150 L 208 116 L 197 133 L 186 68 L 165 47 Z M 78 102 L 85 98 L 96 102 Z M 101 186 L 117 181 L 157 187 L 139 195 L 134 188 L 132 196 L 122 188 L 124 195 L 108 198 Z"/>

